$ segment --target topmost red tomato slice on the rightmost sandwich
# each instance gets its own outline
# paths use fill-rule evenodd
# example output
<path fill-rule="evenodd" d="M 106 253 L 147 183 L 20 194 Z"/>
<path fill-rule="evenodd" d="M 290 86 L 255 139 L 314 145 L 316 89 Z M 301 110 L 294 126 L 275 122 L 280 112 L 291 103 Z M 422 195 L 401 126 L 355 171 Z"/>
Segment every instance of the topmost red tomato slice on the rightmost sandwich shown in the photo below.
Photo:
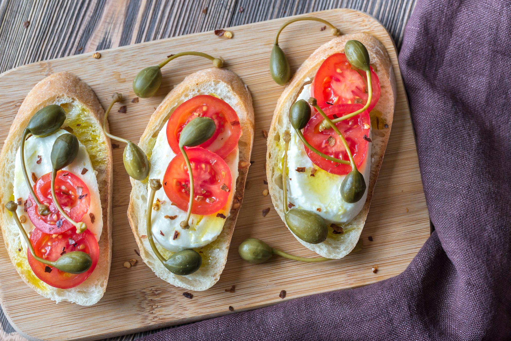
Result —
<path fill-rule="evenodd" d="M 370 69 L 373 98 L 367 111 L 371 111 L 380 99 L 380 80 L 373 68 Z M 367 76 L 365 72 L 353 69 L 343 53 L 325 59 L 312 84 L 312 93 L 321 109 L 335 104 L 355 104 L 356 100 L 361 100 L 363 105 L 367 103 Z"/>

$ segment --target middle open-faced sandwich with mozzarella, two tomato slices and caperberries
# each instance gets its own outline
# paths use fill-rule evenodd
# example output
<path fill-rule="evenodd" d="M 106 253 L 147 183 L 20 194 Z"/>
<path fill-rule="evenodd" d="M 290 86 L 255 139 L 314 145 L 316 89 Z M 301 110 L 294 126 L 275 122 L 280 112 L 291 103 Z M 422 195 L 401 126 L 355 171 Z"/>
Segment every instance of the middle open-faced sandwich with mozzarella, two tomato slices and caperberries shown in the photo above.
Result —
<path fill-rule="evenodd" d="M 253 125 L 248 89 L 222 68 L 185 78 L 151 116 L 138 144 L 149 175 L 131 179 L 128 218 L 159 278 L 192 290 L 218 281 L 243 198 Z"/>

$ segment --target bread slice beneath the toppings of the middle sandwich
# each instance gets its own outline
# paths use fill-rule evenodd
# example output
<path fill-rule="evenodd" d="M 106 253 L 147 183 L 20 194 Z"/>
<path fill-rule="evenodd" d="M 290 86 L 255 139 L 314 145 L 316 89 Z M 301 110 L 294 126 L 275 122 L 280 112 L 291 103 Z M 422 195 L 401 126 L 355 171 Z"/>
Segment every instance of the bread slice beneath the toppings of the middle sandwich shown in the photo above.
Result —
<path fill-rule="evenodd" d="M 235 196 L 243 198 L 245 180 L 248 166 L 250 165 L 250 153 L 252 151 L 254 116 L 250 92 L 241 79 L 232 71 L 222 68 L 209 68 L 195 72 L 185 78 L 169 92 L 153 113 L 138 146 L 148 156 L 152 153 L 157 153 L 157 151 L 153 151 L 156 136 L 174 109 L 184 101 L 200 94 L 217 95 L 227 102 L 240 118 L 242 135 L 238 142 L 240 153 L 239 164 L 244 165 L 244 167 L 239 169 Z M 210 260 L 203 260 L 200 269 L 191 275 L 177 276 L 161 264 L 149 245 L 146 229 L 147 181 L 141 182 L 131 179 L 131 185 L 133 188 L 128 206 L 128 220 L 135 235 L 138 248 L 140 248 L 140 255 L 146 264 L 159 278 L 175 286 L 196 291 L 205 290 L 213 286 L 220 278 L 225 261 L 227 260 L 227 252 L 239 207 L 230 211 L 230 215 L 227 217 L 223 230 L 217 239 L 204 247 L 208 248 L 208 252 L 211 255 Z M 241 204 L 241 200 L 235 198 L 233 203 L 238 202 Z"/>

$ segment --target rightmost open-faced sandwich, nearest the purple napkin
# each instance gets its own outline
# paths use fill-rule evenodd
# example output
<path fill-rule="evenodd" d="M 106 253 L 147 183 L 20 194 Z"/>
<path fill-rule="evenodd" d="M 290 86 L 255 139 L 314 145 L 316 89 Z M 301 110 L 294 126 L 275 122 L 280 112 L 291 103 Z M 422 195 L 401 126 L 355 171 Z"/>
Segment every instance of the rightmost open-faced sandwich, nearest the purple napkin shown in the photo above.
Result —
<path fill-rule="evenodd" d="M 280 84 L 290 75 L 285 61 L 275 42 L 270 67 Z M 267 142 L 269 192 L 293 235 L 323 257 L 342 258 L 357 244 L 395 102 L 389 57 L 366 34 L 319 47 L 277 102 Z"/>

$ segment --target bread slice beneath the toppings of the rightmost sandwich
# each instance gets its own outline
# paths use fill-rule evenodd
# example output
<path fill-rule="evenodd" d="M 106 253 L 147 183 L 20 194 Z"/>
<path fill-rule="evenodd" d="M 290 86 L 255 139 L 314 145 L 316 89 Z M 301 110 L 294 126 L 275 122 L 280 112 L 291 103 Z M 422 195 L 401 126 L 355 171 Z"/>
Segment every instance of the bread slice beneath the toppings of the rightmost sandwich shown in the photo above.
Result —
<path fill-rule="evenodd" d="M 390 59 L 383 44 L 373 36 L 366 34 L 347 34 L 335 37 L 320 46 L 296 71 L 280 99 L 278 99 L 267 141 L 266 176 L 268 179 L 268 188 L 273 206 L 275 206 L 278 215 L 280 215 L 283 222 L 285 222 L 282 202 L 282 171 L 280 169 L 282 160 L 280 159 L 280 151 L 282 151 L 284 145 L 282 134 L 286 129 L 289 131 L 293 129 L 288 118 L 289 110 L 291 105 L 296 101 L 303 86 L 314 79 L 323 61 L 335 53 L 344 53 L 344 44 L 351 39 L 359 40 L 367 48 L 370 57 L 370 65 L 373 66 L 380 79 L 381 94 L 378 104 L 371 110 L 371 134 L 373 140 L 370 155 L 371 169 L 369 184 L 367 186 L 367 199 L 362 210 L 350 223 L 344 224 L 345 233 L 333 235 L 329 227 L 329 236 L 322 243 L 311 244 L 295 236 L 305 247 L 328 258 L 342 258 L 355 248 L 365 224 L 376 179 L 378 178 L 378 172 L 380 171 L 385 148 L 387 147 L 390 128 L 392 127 L 394 106 L 396 105 L 396 80 L 394 78 L 392 64 L 390 63 Z M 388 128 L 378 129 L 378 127 L 373 126 L 372 123 L 375 113 L 378 113 L 379 118 L 383 118 L 382 121 L 387 124 Z"/>

